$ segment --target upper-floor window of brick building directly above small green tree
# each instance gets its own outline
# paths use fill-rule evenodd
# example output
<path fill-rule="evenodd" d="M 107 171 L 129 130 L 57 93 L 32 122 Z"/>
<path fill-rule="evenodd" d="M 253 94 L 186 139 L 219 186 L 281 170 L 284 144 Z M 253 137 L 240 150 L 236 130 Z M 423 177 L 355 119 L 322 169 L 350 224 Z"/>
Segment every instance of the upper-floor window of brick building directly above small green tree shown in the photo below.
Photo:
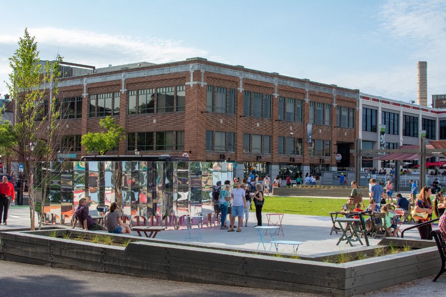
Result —
<path fill-rule="evenodd" d="M 136 98 L 136 95 L 134 97 Z M 102 117 L 108 115 L 119 115 L 120 99 L 119 92 L 90 95 L 89 116 Z M 136 99 L 134 102 L 136 104 Z M 130 103 L 131 100 L 129 97 L 129 104 Z"/>

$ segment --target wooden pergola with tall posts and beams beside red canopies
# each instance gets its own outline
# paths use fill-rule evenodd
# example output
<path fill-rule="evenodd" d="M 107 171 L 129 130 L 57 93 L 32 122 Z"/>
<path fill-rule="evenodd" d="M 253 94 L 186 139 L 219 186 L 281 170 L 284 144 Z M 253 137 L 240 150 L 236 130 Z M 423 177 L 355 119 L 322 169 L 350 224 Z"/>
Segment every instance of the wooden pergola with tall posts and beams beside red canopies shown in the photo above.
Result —
<path fill-rule="evenodd" d="M 374 160 L 394 160 L 395 161 L 395 180 L 399 180 L 399 161 L 401 160 L 420 160 L 420 188 L 426 185 L 426 158 L 434 156 L 436 153 L 443 153 L 446 155 L 446 141 L 429 141 L 430 145 L 426 144 L 426 133 L 421 131 L 419 146 L 401 146 L 400 148 L 392 149 L 362 149 L 361 139 L 356 139 L 356 149 L 350 150 L 355 156 L 355 179 L 361 179 L 361 160 L 365 154 L 386 153 L 386 155 L 374 158 Z M 395 184 L 395 191 L 399 191 L 399 184 Z"/>

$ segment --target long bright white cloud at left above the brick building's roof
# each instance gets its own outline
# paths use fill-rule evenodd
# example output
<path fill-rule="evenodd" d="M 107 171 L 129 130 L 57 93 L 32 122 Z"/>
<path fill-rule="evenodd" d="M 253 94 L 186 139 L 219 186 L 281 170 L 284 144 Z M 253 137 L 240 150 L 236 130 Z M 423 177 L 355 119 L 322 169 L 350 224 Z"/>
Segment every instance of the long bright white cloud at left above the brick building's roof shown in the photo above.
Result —
<path fill-rule="evenodd" d="M 165 63 L 183 60 L 189 57 L 209 55 L 205 49 L 189 47 L 183 41 L 162 40 L 145 37 L 110 35 L 78 29 L 61 29 L 55 27 L 29 28 L 29 33 L 36 37 L 40 57 L 52 59 L 59 53 L 65 61 L 104 67 L 108 64 L 124 64 L 147 61 Z M 13 53 L 22 31 L 0 34 L 0 46 Z M 2 50 L 4 52 L 4 50 Z M 214 60 L 227 63 L 220 56 Z M 3 81 L 10 72 L 7 57 L 0 56 L 0 85 L 6 93 Z"/>

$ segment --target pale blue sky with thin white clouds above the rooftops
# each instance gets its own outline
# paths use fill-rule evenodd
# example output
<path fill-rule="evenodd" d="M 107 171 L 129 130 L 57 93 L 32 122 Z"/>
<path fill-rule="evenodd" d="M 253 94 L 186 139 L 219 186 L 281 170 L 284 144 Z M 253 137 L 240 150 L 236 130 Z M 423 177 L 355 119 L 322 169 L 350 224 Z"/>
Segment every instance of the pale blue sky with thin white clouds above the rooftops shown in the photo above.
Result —
<path fill-rule="evenodd" d="M 428 103 L 446 94 L 446 0 L 0 0 L 0 93 L 25 27 L 40 57 L 104 67 L 201 56 L 228 64 Z"/>

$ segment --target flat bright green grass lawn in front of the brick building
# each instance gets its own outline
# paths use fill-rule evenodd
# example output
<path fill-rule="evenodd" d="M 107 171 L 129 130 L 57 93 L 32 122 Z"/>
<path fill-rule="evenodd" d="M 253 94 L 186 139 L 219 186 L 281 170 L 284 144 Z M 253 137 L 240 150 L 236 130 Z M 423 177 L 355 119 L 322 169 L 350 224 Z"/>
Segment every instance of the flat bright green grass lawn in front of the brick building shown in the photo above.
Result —
<path fill-rule="evenodd" d="M 346 198 L 265 197 L 262 212 L 292 213 L 330 216 L 329 212 L 341 210 Z M 368 203 L 366 203 L 366 206 Z M 253 207 L 254 209 L 254 207 Z"/>

